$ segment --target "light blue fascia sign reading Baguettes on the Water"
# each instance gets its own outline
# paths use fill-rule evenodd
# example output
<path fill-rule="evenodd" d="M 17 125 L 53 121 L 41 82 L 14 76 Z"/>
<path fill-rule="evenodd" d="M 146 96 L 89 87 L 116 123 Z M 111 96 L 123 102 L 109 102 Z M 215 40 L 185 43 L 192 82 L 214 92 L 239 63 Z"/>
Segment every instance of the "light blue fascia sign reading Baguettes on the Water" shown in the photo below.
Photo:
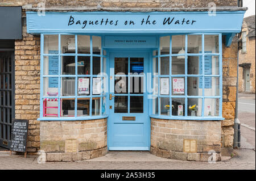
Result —
<path fill-rule="evenodd" d="M 245 11 L 27 12 L 28 33 L 237 33 Z"/>

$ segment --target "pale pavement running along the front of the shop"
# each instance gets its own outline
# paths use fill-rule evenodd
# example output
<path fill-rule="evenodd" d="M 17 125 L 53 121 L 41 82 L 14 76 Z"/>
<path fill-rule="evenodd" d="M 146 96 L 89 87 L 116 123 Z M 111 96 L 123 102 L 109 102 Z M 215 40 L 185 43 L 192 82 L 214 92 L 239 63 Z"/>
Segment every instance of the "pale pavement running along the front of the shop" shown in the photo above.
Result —
<path fill-rule="evenodd" d="M 255 170 L 255 151 L 237 149 L 226 161 L 208 163 L 156 157 L 148 151 L 109 151 L 103 157 L 78 162 L 38 163 L 36 155 L 0 152 L 0 170 Z"/>

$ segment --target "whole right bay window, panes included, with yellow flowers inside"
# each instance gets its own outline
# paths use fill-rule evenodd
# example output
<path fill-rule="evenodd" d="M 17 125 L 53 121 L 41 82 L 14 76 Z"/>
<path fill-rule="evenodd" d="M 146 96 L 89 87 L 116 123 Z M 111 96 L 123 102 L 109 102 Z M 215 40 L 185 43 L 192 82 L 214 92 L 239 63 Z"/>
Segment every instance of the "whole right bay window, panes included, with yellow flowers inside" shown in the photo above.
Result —
<path fill-rule="evenodd" d="M 221 117 L 221 34 L 162 36 L 159 41 L 152 59 L 152 114 Z"/>

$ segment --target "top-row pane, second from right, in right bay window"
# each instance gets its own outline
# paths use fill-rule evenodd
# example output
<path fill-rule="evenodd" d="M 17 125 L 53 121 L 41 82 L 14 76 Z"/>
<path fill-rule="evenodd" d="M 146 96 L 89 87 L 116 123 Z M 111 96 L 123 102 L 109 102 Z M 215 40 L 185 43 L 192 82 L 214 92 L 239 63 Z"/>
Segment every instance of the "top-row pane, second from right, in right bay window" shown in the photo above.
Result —
<path fill-rule="evenodd" d="M 188 35 L 188 53 L 200 53 L 202 51 L 202 36 Z"/>

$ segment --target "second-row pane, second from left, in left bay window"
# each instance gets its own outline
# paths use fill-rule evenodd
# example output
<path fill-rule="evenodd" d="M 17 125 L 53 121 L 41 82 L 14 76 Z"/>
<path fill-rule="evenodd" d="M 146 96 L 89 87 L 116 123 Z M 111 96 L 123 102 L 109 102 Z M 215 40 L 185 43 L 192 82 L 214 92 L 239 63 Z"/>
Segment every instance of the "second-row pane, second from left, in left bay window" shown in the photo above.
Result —
<path fill-rule="evenodd" d="M 63 75 L 75 75 L 75 56 L 61 56 L 61 69 Z"/>

